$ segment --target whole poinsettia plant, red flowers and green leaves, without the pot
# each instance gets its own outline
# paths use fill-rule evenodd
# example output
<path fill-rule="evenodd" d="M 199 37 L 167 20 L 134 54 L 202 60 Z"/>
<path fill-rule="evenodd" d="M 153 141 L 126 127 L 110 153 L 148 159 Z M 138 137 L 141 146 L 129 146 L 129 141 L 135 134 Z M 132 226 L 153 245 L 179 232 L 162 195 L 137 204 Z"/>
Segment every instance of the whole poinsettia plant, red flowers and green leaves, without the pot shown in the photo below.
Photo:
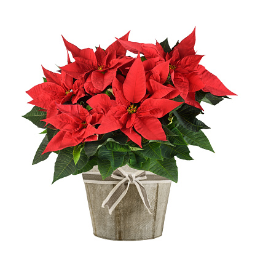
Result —
<path fill-rule="evenodd" d="M 236 94 L 199 64 L 195 29 L 173 48 L 168 39 L 143 44 L 128 34 L 95 51 L 63 38 L 67 65 L 42 68 L 44 82 L 26 92 L 34 107 L 23 117 L 45 134 L 33 164 L 57 153 L 53 182 L 96 165 L 104 179 L 126 164 L 177 182 L 175 156 L 192 160 L 187 145 L 214 152 L 197 119 L 200 103 Z"/>

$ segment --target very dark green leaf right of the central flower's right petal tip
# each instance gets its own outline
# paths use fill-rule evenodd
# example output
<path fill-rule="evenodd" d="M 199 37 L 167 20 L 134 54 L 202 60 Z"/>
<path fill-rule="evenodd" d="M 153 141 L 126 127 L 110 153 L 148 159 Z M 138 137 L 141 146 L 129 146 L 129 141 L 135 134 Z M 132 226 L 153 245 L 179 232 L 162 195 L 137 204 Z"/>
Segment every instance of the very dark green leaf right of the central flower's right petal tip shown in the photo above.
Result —
<path fill-rule="evenodd" d="M 210 129 L 210 127 L 206 126 L 202 121 L 195 118 L 200 113 L 202 113 L 202 111 L 198 108 L 183 104 L 181 108 L 179 108 L 179 110 L 175 111 L 173 114 L 175 114 L 178 122 L 184 128 L 198 132 L 200 129 Z"/>

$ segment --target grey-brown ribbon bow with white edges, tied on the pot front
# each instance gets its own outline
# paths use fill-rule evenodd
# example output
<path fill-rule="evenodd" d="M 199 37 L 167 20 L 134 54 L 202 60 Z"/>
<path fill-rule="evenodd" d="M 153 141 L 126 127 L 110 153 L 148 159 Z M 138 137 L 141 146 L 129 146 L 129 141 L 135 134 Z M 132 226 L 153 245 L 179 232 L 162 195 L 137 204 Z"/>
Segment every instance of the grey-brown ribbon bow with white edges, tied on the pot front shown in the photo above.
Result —
<path fill-rule="evenodd" d="M 119 204 L 122 198 L 124 198 L 125 194 L 127 194 L 130 184 L 135 184 L 144 206 L 148 212 L 152 214 L 151 205 L 149 203 L 146 190 L 143 184 L 140 182 L 140 180 L 145 180 L 147 178 L 144 170 L 138 170 L 135 172 L 135 174 L 126 174 L 124 170 L 119 168 L 114 170 L 111 177 L 115 178 L 116 180 L 120 180 L 120 182 L 114 186 L 107 198 L 103 201 L 102 207 L 104 208 L 104 206 L 108 206 L 109 214 L 112 214 L 112 210 L 115 209 L 117 204 Z"/>

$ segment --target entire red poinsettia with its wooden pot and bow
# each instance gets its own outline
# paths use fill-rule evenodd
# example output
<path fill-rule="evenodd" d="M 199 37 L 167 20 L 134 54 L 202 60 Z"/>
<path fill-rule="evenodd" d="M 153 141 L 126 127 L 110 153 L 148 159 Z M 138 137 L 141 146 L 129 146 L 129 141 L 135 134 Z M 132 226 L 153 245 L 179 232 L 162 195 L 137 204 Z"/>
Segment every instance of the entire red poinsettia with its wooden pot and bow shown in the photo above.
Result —
<path fill-rule="evenodd" d="M 114 240 L 162 235 L 175 157 L 192 160 L 187 145 L 214 152 L 200 103 L 236 95 L 199 64 L 195 29 L 172 49 L 167 39 L 143 44 L 128 34 L 95 52 L 63 38 L 68 64 L 58 73 L 42 68 L 23 116 L 44 129 L 33 164 L 54 152 L 52 183 L 82 174 L 94 234 Z"/>

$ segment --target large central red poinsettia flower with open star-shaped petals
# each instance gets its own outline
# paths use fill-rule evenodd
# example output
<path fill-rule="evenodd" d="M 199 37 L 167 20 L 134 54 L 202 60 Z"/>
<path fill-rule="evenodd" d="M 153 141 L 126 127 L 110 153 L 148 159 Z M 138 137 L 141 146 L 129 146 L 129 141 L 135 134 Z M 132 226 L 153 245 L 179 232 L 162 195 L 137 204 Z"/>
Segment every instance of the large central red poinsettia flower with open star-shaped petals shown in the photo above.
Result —
<path fill-rule="evenodd" d="M 103 94 L 95 95 L 87 101 L 92 108 L 101 108 L 106 112 L 105 118 L 98 127 L 98 134 L 120 129 L 141 147 L 139 134 L 148 140 L 167 140 L 158 118 L 162 118 L 181 103 L 167 99 L 144 100 L 146 79 L 139 54 L 128 71 L 123 85 L 114 78 L 112 90 L 116 101 Z"/>

